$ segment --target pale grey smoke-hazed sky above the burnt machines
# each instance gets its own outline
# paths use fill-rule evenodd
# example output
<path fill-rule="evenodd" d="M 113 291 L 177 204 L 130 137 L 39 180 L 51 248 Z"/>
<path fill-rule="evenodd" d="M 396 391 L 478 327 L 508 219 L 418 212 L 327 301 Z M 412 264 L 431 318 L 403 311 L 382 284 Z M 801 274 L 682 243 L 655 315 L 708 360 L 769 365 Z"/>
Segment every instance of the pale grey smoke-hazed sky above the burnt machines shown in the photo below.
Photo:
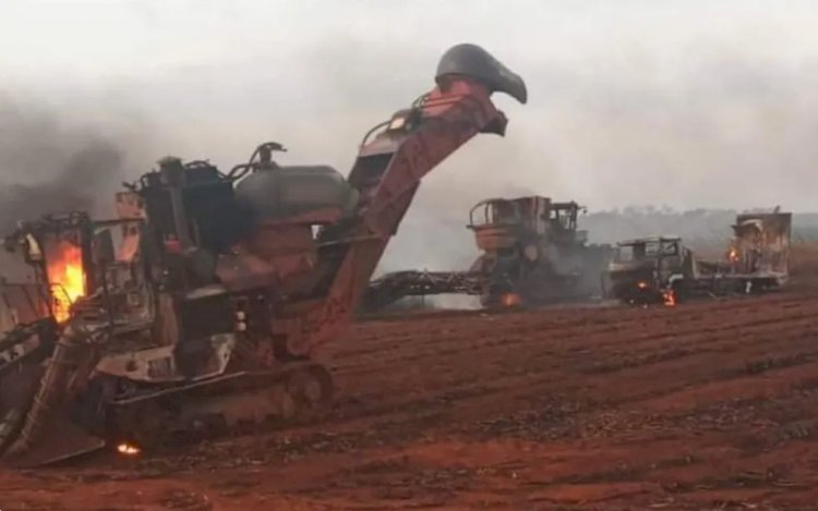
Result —
<path fill-rule="evenodd" d="M 524 76 L 529 104 L 496 98 L 507 136 L 480 136 L 424 181 L 382 265 L 440 268 L 474 255 L 465 224 L 486 197 L 814 209 L 817 11 L 798 0 L 9 0 L 0 90 L 92 126 L 129 175 L 168 154 L 229 167 L 267 139 L 290 149 L 282 162 L 346 173 L 361 135 L 433 85 L 445 49 L 479 44 Z M 0 162 L 14 183 L 17 166 Z"/>

